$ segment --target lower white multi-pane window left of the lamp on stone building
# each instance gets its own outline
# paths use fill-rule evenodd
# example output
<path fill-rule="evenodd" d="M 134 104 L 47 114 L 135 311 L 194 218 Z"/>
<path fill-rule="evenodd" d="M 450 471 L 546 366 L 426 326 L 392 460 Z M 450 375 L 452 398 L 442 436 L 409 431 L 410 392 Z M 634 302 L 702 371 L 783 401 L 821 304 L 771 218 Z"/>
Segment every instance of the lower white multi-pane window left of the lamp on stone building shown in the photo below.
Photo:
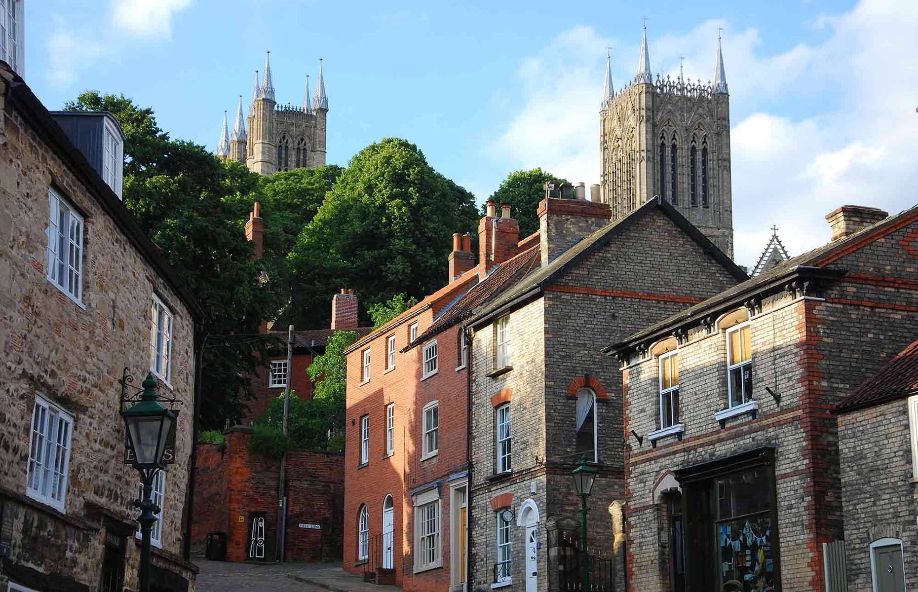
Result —
<path fill-rule="evenodd" d="M 66 513 L 72 439 L 73 415 L 36 396 L 28 430 L 26 495 L 62 513 Z"/>

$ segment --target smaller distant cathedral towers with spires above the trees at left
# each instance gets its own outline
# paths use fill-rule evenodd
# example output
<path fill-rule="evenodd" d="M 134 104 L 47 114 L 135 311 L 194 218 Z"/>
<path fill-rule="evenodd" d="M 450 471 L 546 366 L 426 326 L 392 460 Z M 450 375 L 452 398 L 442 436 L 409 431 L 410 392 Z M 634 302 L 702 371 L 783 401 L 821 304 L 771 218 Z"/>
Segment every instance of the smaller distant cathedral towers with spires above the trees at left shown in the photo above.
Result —
<path fill-rule="evenodd" d="M 329 97 L 325 94 L 322 61 L 319 60 L 319 84 L 316 95 L 309 97 L 309 77 L 303 106 L 278 105 L 274 100 L 271 79 L 271 52 L 264 59 L 261 82 L 255 73 L 255 89 L 249 117 L 242 118 L 242 96 L 236 112 L 236 124 L 229 132 L 223 114 L 223 130 L 217 145 L 217 156 L 223 160 L 245 162 L 252 173 L 273 174 L 300 167 L 315 168 L 325 164 L 325 128 Z M 248 128 L 248 133 L 246 132 Z"/>

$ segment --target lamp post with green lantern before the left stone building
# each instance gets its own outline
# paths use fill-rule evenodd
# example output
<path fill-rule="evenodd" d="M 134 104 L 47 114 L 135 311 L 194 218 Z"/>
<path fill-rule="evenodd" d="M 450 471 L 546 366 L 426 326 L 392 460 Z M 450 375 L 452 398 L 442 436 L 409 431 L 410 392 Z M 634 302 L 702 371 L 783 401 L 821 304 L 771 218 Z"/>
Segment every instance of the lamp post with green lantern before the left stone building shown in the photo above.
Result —
<path fill-rule="evenodd" d="M 140 509 L 140 592 L 150 592 L 150 536 L 160 508 L 153 503 L 153 477 L 162 471 L 162 453 L 166 437 L 175 421 L 175 413 L 162 407 L 157 399 L 157 382 L 152 374 L 143 380 L 140 401 L 121 412 L 128 428 L 128 450 L 131 463 L 140 472 L 143 493 L 135 506 Z"/>

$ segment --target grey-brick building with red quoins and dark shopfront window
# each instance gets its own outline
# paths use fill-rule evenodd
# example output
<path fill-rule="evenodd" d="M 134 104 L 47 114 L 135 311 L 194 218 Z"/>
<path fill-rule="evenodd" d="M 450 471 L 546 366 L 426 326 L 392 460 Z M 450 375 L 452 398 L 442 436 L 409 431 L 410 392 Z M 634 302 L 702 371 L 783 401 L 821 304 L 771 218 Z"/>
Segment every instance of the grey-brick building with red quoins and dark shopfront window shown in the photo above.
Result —
<path fill-rule="evenodd" d="M 832 410 L 913 340 L 918 312 L 918 207 L 885 217 L 840 208 L 832 243 L 607 348 L 624 384 L 629 590 L 823 591 L 826 564 L 837 578 Z"/>

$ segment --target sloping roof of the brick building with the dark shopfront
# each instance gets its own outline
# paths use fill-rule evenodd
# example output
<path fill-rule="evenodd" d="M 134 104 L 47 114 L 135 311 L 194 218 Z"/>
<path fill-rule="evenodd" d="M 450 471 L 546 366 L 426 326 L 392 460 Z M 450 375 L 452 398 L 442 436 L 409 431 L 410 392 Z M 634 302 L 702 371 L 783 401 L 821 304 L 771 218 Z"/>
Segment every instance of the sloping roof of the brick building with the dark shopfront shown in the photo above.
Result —
<path fill-rule="evenodd" d="M 747 280 L 741 284 L 733 285 L 732 287 L 727 288 L 716 296 L 711 296 L 707 300 L 686 308 L 682 312 L 678 312 L 672 317 L 665 318 L 664 320 L 656 323 L 655 325 L 651 325 L 645 330 L 634 333 L 631 337 L 625 339 L 624 341 L 610 345 L 603 351 L 620 351 L 629 344 L 633 344 L 637 341 L 642 341 L 657 331 L 665 330 L 670 326 L 686 321 L 689 318 L 699 315 L 700 313 L 705 313 L 709 308 L 715 307 L 718 304 L 730 300 L 735 296 L 746 293 L 755 294 L 757 288 L 766 287 L 768 284 L 777 280 L 781 276 L 792 273 L 796 268 L 826 267 L 834 262 L 837 258 L 845 255 L 847 251 L 857 249 L 862 240 L 869 241 L 875 237 L 879 238 L 879 236 L 885 235 L 887 231 L 897 228 L 900 223 L 908 223 L 912 218 L 915 217 L 918 217 L 918 206 L 910 207 L 909 209 L 903 210 L 895 216 L 890 216 L 889 218 L 882 219 L 865 229 L 858 230 L 854 234 L 846 236 L 844 239 L 835 240 L 834 242 L 824 244 L 822 247 L 818 247 L 812 251 L 805 252 L 802 255 L 798 255 L 797 257 L 791 257 L 789 260 L 781 262 L 781 264 L 756 275 L 752 279 Z"/>

